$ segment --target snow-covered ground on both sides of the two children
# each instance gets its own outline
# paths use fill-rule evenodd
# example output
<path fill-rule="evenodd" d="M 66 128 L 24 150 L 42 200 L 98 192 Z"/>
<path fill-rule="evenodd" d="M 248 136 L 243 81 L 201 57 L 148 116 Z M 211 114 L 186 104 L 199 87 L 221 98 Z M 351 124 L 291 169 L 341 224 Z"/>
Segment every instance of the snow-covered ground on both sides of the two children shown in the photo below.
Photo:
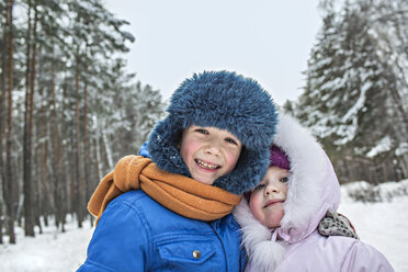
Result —
<path fill-rule="evenodd" d="M 403 183 L 408 188 L 408 180 Z M 363 241 L 387 257 L 395 271 L 408 271 L 408 195 L 381 203 L 353 202 L 348 197 L 348 190 L 362 185 L 354 183 L 342 186 L 340 213 L 349 217 Z M 401 182 L 389 182 L 382 184 L 381 189 L 386 194 L 400 185 Z M 48 227 L 36 238 L 26 238 L 18 228 L 16 245 L 0 245 L 0 271 L 76 271 L 84 261 L 92 231 L 89 223 L 82 229 L 77 229 L 75 223 L 70 223 L 65 234 Z"/>

